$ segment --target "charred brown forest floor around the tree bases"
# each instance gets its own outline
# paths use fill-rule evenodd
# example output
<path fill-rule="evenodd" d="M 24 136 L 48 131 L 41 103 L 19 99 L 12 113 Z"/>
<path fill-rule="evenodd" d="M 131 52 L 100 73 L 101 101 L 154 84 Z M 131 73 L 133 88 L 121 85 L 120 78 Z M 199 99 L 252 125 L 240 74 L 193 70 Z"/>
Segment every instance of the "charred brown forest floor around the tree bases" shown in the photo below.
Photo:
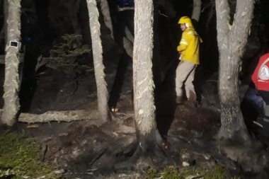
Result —
<path fill-rule="evenodd" d="M 113 48 L 110 50 L 110 55 L 117 52 Z M 113 54 L 113 57 L 120 59 L 118 53 Z M 117 65 L 117 60 L 105 62 L 108 88 L 113 86 Z M 101 123 L 98 118 L 94 118 L 74 122 L 19 123 L 19 129 L 33 136 L 42 146 L 41 156 L 44 161 L 58 170 L 64 170 L 63 178 L 144 178 L 147 175 L 148 167 L 137 163 L 134 166 L 125 165 L 125 161 L 130 160 L 134 153 L 136 144 L 132 63 L 126 67 L 118 103 L 111 112 L 111 122 Z M 44 72 L 38 79 L 30 113 L 97 110 L 93 74 L 80 79 L 74 86 L 74 81 L 65 79 L 59 71 L 46 69 Z M 154 167 L 157 170 L 176 166 L 190 171 L 194 168 L 212 171 L 216 166 L 222 166 L 226 178 L 266 178 L 261 160 L 265 152 L 263 145 L 255 142 L 259 147 L 248 150 L 246 146 L 224 146 L 224 150 L 219 148 L 217 84 L 213 81 L 204 86 L 206 91 L 202 94 L 202 105 L 198 108 L 176 105 L 171 80 L 156 89 L 156 120 L 167 144 L 163 148 L 166 160 L 154 163 Z"/>

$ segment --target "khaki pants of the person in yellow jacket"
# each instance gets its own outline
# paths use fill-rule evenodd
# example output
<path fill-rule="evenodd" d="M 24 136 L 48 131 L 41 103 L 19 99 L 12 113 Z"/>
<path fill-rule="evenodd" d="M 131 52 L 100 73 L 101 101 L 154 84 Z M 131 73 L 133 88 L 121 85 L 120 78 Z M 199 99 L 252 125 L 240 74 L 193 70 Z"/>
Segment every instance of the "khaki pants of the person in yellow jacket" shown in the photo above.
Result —
<path fill-rule="evenodd" d="M 183 96 L 183 85 L 188 100 L 195 101 L 196 93 L 193 86 L 197 64 L 181 60 L 176 69 L 176 96 Z M 185 83 L 184 83 L 185 82 Z"/>

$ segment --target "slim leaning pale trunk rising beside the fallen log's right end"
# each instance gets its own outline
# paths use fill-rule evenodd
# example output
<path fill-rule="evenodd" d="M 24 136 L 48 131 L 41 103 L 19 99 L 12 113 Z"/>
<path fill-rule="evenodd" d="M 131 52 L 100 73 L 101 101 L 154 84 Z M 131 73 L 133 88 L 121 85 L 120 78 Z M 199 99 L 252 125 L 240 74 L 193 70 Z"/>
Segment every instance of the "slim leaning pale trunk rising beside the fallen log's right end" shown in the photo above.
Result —
<path fill-rule="evenodd" d="M 103 47 L 101 45 L 101 30 L 98 21 L 99 13 L 96 0 L 87 0 L 88 16 L 91 28 L 91 42 L 93 49 L 93 64 L 96 76 L 98 110 L 103 121 L 110 121 L 111 115 L 108 108 L 108 89 L 105 82 L 105 72 L 103 65 Z"/>

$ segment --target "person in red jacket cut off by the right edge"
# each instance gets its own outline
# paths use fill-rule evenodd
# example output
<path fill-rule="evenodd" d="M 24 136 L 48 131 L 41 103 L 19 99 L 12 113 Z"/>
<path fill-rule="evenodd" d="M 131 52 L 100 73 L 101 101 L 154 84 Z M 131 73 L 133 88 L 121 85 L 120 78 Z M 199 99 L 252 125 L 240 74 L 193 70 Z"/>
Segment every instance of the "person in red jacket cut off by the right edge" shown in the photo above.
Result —
<path fill-rule="evenodd" d="M 263 125 L 263 133 L 269 137 L 269 53 L 261 56 L 251 79 L 256 86 L 258 94 L 265 102 L 261 125 Z"/>

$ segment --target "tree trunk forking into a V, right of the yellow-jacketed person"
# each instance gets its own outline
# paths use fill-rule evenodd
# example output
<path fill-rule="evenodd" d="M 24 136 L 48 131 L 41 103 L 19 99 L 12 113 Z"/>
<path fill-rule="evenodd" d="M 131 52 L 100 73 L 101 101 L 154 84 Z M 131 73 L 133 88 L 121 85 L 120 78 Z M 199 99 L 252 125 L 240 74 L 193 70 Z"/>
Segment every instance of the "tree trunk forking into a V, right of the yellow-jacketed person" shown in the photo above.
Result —
<path fill-rule="evenodd" d="M 219 46 L 219 99 L 222 127 L 219 138 L 248 140 L 240 110 L 239 69 L 251 27 L 254 0 L 237 0 L 234 22 L 230 21 L 227 0 L 216 0 L 217 42 Z"/>

